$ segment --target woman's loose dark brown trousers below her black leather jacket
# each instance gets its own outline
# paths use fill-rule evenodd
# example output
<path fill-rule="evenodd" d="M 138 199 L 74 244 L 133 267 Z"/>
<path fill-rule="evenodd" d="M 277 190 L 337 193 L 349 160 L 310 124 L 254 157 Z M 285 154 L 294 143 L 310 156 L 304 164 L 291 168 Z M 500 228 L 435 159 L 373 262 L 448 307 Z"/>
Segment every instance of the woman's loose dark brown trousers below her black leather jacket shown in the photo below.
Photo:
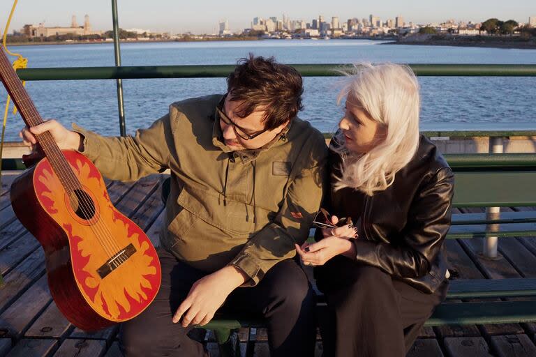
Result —
<path fill-rule="evenodd" d="M 325 357 L 405 356 L 448 289 L 445 281 L 425 294 L 345 257 L 315 268 L 315 276 L 328 305 L 320 323 Z"/>

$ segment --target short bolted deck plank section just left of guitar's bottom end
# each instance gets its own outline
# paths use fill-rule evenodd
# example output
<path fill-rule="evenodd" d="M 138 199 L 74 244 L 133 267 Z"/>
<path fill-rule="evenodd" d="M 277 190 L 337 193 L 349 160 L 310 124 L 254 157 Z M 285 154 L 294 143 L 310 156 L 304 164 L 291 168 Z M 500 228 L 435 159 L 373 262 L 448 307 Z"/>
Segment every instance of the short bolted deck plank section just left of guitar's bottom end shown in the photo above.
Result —
<path fill-rule="evenodd" d="M 48 305 L 47 310 L 38 317 L 24 333 L 24 337 L 50 337 L 63 341 L 64 338 L 73 330 L 74 326 L 58 310 L 54 301 Z"/>

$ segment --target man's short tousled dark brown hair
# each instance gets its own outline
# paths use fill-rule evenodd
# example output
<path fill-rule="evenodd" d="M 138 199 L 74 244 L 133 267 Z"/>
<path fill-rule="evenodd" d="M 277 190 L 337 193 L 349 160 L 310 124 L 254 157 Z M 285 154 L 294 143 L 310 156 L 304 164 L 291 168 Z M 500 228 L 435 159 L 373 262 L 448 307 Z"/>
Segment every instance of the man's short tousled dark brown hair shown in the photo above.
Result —
<path fill-rule="evenodd" d="M 262 121 L 265 128 L 271 130 L 304 109 L 302 82 L 294 68 L 277 63 L 274 57 L 265 59 L 250 53 L 248 59 L 239 59 L 237 68 L 227 77 L 227 91 L 230 100 L 244 100 L 235 113 L 241 118 L 257 107 L 265 107 Z"/>

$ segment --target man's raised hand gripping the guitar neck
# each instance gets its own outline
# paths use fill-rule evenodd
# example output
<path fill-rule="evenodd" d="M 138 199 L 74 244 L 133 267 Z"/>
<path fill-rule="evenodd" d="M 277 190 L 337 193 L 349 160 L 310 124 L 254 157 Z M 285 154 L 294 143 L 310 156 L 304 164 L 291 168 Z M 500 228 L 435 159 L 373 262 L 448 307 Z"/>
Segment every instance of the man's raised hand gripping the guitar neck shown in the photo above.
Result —
<path fill-rule="evenodd" d="M 19 136 L 22 137 L 22 142 L 24 145 L 28 146 L 33 151 L 37 144 L 35 135 L 43 134 L 43 132 L 46 131 L 50 132 L 54 142 L 58 144 L 58 147 L 61 150 L 82 151 L 84 149 L 82 144 L 82 136 L 77 132 L 67 130 L 54 119 L 47 120 L 38 126 L 24 128 L 20 130 Z"/>

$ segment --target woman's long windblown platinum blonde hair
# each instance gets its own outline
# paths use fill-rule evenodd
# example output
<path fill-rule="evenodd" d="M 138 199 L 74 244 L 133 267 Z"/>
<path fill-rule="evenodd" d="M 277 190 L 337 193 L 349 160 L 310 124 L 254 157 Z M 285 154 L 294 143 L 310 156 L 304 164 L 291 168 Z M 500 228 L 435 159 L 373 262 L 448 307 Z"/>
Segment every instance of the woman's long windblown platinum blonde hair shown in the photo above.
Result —
<path fill-rule="evenodd" d="M 346 78 L 338 103 L 351 97 L 352 105 L 385 126 L 387 132 L 382 142 L 364 154 L 345 149 L 341 133 L 334 137 L 342 144 L 337 151 L 343 158 L 341 176 L 335 177 L 334 189 L 350 187 L 371 196 L 392 185 L 396 172 L 417 151 L 419 83 L 411 68 L 394 63 L 359 63 L 342 72 Z"/>

